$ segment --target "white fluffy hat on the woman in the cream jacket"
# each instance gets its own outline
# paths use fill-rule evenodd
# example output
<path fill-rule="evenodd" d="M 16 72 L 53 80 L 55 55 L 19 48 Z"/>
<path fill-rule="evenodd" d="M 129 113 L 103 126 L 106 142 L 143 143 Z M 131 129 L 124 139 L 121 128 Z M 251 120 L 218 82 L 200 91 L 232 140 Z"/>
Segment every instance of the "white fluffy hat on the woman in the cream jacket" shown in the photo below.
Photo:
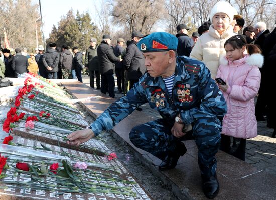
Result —
<path fill-rule="evenodd" d="M 214 5 L 214 7 L 211 10 L 211 13 L 210 13 L 211 22 L 213 22 L 213 17 L 217 13 L 225 13 L 230 18 L 230 23 L 231 23 L 234 19 L 234 14 L 237 13 L 237 11 L 228 2 L 219 1 Z"/>

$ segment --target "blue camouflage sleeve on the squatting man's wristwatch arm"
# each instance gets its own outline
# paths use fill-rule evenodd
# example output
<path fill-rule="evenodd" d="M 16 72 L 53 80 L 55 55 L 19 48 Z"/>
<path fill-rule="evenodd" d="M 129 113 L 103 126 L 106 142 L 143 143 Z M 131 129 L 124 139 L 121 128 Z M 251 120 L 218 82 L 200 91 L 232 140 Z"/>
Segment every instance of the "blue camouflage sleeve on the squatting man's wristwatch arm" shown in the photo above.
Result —
<path fill-rule="evenodd" d="M 227 105 L 222 92 L 211 78 L 209 69 L 204 65 L 199 73 L 198 91 L 200 96 L 199 107 L 181 112 L 181 119 L 185 124 L 191 124 L 201 117 L 217 117 L 222 119 L 226 114 Z"/>

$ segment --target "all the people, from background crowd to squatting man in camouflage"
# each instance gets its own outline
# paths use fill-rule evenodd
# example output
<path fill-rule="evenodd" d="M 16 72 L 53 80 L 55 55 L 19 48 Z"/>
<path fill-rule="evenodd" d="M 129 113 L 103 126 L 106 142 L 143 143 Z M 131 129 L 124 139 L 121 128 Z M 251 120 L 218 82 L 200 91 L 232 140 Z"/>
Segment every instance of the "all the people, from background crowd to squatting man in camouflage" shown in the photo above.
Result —
<path fill-rule="evenodd" d="M 0 60 L 0 76 L 17 77 L 30 71 L 82 82 L 81 71 L 86 68 L 90 87 L 95 88 L 95 78 L 96 89 L 114 98 L 116 75 L 117 92 L 126 95 L 89 129 L 70 134 L 67 143 L 80 145 L 96 137 L 148 102 L 162 119 L 134 127 L 131 142 L 160 158 L 159 170 L 168 170 L 187 151 L 181 140 L 194 138 L 203 191 L 212 199 L 219 191 L 218 149 L 245 160 L 246 139 L 257 135 L 257 121 L 267 119 L 267 126 L 274 129 L 276 124 L 275 105 L 267 96 L 275 74 L 276 28 L 270 33 L 264 22 L 243 28 L 244 24 L 228 2 L 220 1 L 212 8 L 210 20 L 191 37 L 190 28 L 179 24 L 176 36 L 134 31 L 131 40 L 118 38 L 116 46 L 108 34 L 100 44 L 91 38 L 85 53 L 77 47 L 70 51 L 66 45 L 58 50 L 50 43 L 45 53 L 39 46 L 38 53 L 27 59 L 20 49 L 15 49 L 15 56 L 3 49 L 5 67 Z"/>

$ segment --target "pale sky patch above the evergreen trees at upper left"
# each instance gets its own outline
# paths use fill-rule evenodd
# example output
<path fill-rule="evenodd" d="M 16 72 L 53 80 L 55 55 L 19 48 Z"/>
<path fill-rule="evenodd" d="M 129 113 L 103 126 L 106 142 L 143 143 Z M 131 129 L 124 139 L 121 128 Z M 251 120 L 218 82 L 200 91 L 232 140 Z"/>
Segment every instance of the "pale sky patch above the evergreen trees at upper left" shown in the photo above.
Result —
<path fill-rule="evenodd" d="M 32 0 L 35 4 L 39 4 L 39 0 Z M 49 38 L 53 25 L 58 26 L 62 16 L 66 16 L 68 11 L 72 8 L 74 14 L 77 10 L 83 13 L 88 10 L 92 21 L 96 23 L 96 13 L 94 12 L 95 5 L 101 8 L 99 0 L 41 0 L 41 12 L 43 20 L 43 31 L 45 38 Z"/>

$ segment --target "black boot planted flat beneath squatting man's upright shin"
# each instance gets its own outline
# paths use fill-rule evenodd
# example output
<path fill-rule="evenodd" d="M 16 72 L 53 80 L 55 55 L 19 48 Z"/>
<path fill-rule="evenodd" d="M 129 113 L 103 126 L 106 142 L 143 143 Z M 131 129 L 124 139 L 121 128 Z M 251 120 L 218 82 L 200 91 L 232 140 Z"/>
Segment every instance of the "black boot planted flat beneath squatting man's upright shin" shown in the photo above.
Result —
<path fill-rule="evenodd" d="M 209 199 L 213 199 L 218 195 L 219 183 L 217 180 L 217 175 L 211 176 L 209 178 L 203 178 L 203 192 L 205 196 Z"/>

